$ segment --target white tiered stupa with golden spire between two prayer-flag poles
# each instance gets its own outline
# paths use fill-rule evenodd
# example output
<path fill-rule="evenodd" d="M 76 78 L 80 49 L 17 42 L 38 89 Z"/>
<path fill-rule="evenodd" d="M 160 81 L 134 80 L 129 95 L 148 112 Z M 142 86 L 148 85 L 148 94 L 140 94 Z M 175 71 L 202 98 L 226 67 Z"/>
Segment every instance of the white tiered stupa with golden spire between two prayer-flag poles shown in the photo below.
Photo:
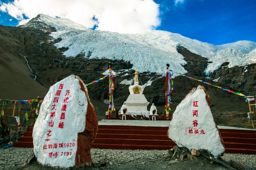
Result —
<path fill-rule="evenodd" d="M 149 102 L 147 101 L 146 97 L 142 94 L 143 90 L 144 87 L 142 85 L 139 85 L 138 70 L 136 69 L 134 85 L 130 85 L 130 95 L 125 101 L 127 112 L 133 112 L 136 115 L 141 115 L 141 113 L 149 113 L 149 111 L 147 110 Z M 123 110 L 121 110 L 121 114 L 124 114 Z"/>

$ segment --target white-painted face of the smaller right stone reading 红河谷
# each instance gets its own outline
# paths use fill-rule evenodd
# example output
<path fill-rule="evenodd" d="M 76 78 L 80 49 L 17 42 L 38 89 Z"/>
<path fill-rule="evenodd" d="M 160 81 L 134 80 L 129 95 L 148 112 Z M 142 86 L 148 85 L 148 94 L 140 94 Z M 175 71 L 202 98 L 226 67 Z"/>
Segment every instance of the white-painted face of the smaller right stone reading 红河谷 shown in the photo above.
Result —
<path fill-rule="evenodd" d="M 178 146 L 185 146 L 189 150 L 207 149 L 214 157 L 225 151 L 204 87 L 199 85 L 192 89 L 177 106 L 170 122 L 168 137 Z"/>

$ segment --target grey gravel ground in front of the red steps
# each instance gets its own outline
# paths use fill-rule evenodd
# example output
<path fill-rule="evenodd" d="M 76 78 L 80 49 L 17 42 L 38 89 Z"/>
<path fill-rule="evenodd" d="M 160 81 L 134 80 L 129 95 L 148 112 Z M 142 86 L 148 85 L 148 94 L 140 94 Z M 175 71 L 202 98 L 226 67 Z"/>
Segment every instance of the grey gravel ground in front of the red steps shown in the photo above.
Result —
<path fill-rule="evenodd" d="M 182 162 L 173 163 L 167 150 L 112 150 L 112 149 L 91 149 L 92 160 L 96 164 L 92 166 L 80 167 L 78 169 L 145 169 L 145 170 L 225 170 L 227 168 L 212 163 L 203 157 L 196 160 L 184 159 Z M 0 169 L 10 170 L 53 170 L 56 168 L 42 166 L 33 158 L 33 148 L 9 147 L 0 150 Z M 33 158 L 33 159 L 32 159 Z M 248 169 L 256 170 L 256 155 L 228 154 L 225 153 L 222 159 L 238 161 Z M 69 168 L 70 169 L 70 168 Z M 72 168 L 71 168 L 72 169 Z M 74 169 L 74 168 L 73 168 Z"/>

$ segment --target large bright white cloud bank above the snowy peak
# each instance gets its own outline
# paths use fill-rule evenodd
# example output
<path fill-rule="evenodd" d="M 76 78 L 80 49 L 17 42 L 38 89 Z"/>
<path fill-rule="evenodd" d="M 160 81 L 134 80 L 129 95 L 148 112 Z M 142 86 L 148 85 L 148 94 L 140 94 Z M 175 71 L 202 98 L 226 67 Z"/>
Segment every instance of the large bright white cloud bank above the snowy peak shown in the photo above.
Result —
<path fill-rule="evenodd" d="M 180 1 L 180 0 L 179 0 Z M 137 33 L 160 25 L 159 5 L 153 0 L 14 0 L 2 3 L 0 10 L 25 23 L 38 14 L 68 18 L 99 30 Z M 98 22 L 92 18 L 98 19 Z"/>

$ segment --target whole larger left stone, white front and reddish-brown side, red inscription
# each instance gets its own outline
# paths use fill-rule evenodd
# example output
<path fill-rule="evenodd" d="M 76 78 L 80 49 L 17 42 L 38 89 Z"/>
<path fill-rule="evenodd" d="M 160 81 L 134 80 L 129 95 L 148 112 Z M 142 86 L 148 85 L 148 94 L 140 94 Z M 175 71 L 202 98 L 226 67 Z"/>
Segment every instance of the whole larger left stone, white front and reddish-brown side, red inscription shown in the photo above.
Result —
<path fill-rule="evenodd" d="M 75 75 L 50 87 L 33 129 L 36 159 L 52 167 L 91 165 L 98 120 L 83 81 Z"/>

